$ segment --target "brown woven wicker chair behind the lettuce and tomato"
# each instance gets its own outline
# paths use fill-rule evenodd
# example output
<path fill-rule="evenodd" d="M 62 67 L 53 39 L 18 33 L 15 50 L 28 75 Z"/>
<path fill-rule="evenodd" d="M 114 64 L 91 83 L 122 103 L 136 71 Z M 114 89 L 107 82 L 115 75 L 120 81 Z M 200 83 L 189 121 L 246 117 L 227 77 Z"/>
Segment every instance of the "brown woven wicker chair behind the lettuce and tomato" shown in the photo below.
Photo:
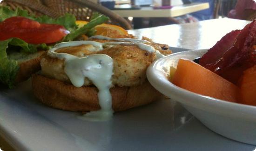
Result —
<path fill-rule="evenodd" d="M 41 3 L 42 1 L 42 3 Z M 93 10 L 108 16 L 111 24 L 121 25 L 125 29 L 131 29 L 131 25 L 127 20 L 116 13 L 111 12 L 108 8 L 94 4 L 91 1 L 75 0 L 76 3 L 69 0 L 3 0 L 3 6 L 9 6 L 11 9 L 25 9 L 28 13 L 40 15 L 48 15 L 57 18 L 65 13 L 72 13 L 80 20 L 89 20 Z M 58 4 L 60 1 L 60 4 Z M 81 4 L 79 3 L 81 2 Z M 43 5 L 44 4 L 44 5 Z M 82 6 L 82 7 L 81 7 Z M 90 8 L 90 9 L 89 9 Z M 94 9 L 95 8 L 95 9 Z"/>

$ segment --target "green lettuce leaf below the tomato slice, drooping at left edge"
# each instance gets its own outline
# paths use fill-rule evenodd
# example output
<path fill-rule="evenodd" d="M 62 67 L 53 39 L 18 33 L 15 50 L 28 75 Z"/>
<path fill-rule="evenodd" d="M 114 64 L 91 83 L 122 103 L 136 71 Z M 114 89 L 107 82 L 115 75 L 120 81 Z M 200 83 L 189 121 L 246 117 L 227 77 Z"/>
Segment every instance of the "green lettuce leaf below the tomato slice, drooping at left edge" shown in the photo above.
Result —
<path fill-rule="evenodd" d="M 21 53 L 34 53 L 38 48 L 48 49 L 48 47 L 46 44 L 27 44 L 19 38 L 0 41 L 0 82 L 9 88 L 13 88 L 15 78 L 19 72 L 19 65 L 17 61 L 8 58 L 7 51 L 9 46 L 15 46 L 12 47 L 12 51 L 20 51 Z M 13 48 L 16 50 L 13 50 Z"/>

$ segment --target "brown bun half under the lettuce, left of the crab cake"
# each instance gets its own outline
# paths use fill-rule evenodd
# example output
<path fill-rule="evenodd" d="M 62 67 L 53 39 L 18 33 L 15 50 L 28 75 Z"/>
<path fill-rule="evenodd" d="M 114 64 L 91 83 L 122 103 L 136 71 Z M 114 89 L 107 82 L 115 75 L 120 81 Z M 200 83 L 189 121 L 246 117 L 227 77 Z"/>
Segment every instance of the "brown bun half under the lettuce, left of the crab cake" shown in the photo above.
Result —
<path fill-rule="evenodd" d="M 15 83 L 26 81 L 33 73 L 41 69 L 40 60 L 45 51 L 38 51 L 28 55 L 27 58 L 18 60 L 19 72 L 15 78 Z"/>

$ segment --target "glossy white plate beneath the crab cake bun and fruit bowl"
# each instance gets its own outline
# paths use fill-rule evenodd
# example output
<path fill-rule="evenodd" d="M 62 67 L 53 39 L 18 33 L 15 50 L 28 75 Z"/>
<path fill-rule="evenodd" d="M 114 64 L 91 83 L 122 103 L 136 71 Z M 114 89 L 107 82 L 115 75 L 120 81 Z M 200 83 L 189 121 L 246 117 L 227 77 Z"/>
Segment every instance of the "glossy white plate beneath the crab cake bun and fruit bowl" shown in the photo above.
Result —
<path fill-rule="evenodd" d="M 30 81 L 0 89 L 0 135 L 24 151 L 253 151 L 210 131 L 175 101 L 162 100 L 89 122 L 39 103 Z"/>

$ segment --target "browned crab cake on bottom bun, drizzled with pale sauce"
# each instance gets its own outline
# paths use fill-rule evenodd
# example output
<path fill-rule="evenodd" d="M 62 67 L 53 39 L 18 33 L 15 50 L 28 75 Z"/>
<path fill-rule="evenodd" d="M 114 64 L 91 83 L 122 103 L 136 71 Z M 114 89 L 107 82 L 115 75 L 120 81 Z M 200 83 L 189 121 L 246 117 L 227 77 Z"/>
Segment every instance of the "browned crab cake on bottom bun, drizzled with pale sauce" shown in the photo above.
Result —
<path fill-rule="evenodd" d="M 159 56 L 160 44 L 95 41 L 57 46 L 41 59 L 41 72 L 32 77 L 34 94 L 41 102 L 64 110 L 112 114 L 113 110 L 123 111 L 162 98 L 146 78 L 148 66 Z M 170 54 L 171 50 L 166 52 Z M 71 62 L 76 64 L 68 64 Z M 72 72 L 67 72 L 67 67 Z M 83 76 L 74 79 L 70 74 L 75 73 Z"/>

